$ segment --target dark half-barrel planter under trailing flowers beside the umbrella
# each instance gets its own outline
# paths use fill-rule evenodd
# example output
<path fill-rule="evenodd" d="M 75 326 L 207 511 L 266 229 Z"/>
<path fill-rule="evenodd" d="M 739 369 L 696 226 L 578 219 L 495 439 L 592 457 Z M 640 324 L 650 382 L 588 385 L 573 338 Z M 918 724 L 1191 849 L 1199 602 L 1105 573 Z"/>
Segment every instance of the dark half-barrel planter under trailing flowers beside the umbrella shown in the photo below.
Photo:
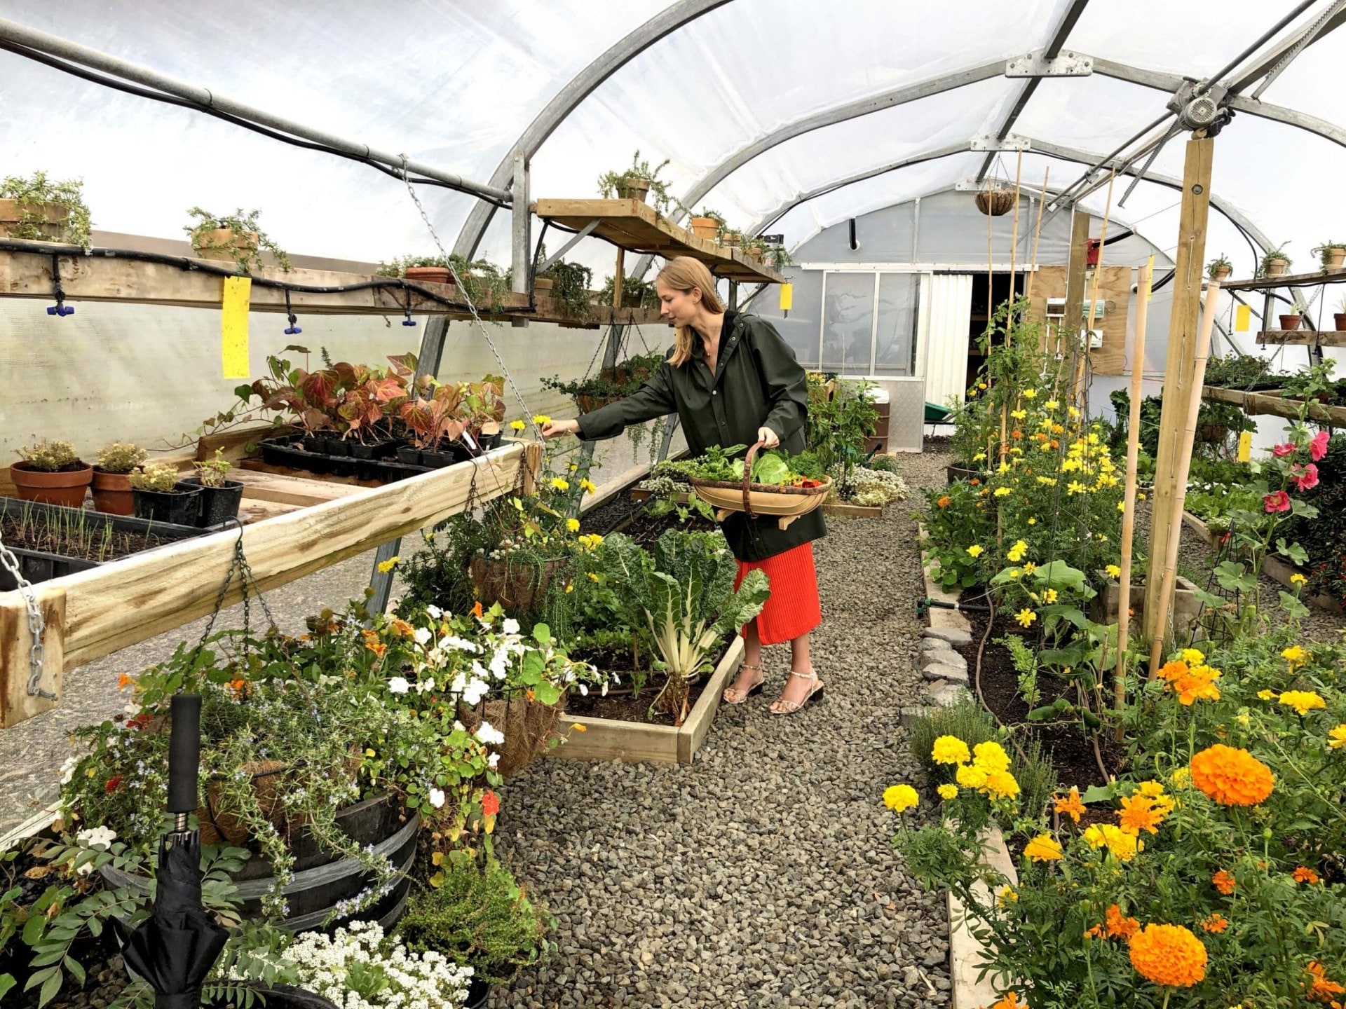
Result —
<path fill-rule="evenodd" d="M 392 892 L 370 908 L 359 912 L 361 920 L 376 920 L 389 928 L 406 909 L 411 889 L 411 870 L 416 860 L 416 834 L 420 814 L 404 819 L 402 810 L 392 796 L 376 795 L 336 813 L 336 826 L 362 848 L 373 845 L 376 854 L 386 854 L 404 873 Z M 289 918 L 281 924 L 292 931 L 318 928 L 343 900 L 358 895 L 367 884 L 369 874 L 353 858 L 323 852 L 308 831 L 297 833 L 291 848 L 295 853 L 293 879 L 285 887 Z M 139 893 L 149 893 L 149 877 L 121 872 L 112 866 L 98 870 L 113 887 L 127 887 Z M 233 873 L 242 901 L 244 918 L 260 919 L 261 897 L 272 888 L 271 864 L 265 858 L 249 858 L 244 868 Z"/>

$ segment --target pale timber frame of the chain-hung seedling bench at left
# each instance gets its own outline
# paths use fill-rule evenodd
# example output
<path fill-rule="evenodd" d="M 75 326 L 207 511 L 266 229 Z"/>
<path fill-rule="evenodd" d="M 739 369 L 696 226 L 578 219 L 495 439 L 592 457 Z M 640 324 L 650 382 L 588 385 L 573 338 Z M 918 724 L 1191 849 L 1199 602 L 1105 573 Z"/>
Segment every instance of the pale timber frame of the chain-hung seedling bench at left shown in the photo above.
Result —
<path fill-rule="evenodd" d="M 24 597 L 0 592 L 0 728 L 58 706 L 66 670 L 209 615 L 240 535 L 258 585 L 272 589 L 455 515 L 472 500 L 507 494 L 520 470 L 536 472 L 540 460 L 541 445 L 509 443 L 470 463 L 369 488 L 240 467 L 234 472 L 254 499 L 297 507 L 242 533 L 184 539 L 34 585 L 44 622 L 42 686 L 57 701 L 28 696 Z M 223 604 L 241 597 L 234 578 Z"/>

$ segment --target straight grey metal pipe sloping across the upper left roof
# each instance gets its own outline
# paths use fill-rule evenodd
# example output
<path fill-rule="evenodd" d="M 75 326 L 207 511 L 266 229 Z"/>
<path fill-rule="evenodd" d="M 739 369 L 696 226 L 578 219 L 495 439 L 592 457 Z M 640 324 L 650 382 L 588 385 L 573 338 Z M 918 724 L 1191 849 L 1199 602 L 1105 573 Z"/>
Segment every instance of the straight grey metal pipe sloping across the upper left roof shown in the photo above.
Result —
<path fill-rule="evenodd" d="M 485 196 L 498 203 L 509 203 L 511 199 L 509 190 L 471 182 L 460 175 L 441 171 L 424 164 L 423 161 L 416 161 L 388 151 L 380 151 L 378 148 L 369 147 L 367 144 L 347 140 L 322 129 L 314 129 L 312 126 L 306 126 L 302 122 L 295 122 L 293 120 L 287 120 L 281 116 L 273 116 L 269 112 L 254 109 L 250 105 L 233 101 L 222 94 L 215 94 L 207 87 L 199 87 L 197 85 L 187 83 L 186 81 L 179 81 L 175 77 L 160 74 L 157 70 L 143 67 L 139 63 L 132 63 L 131 61 L 90 48 L 89 46 L 81 46 L 78 42 L 70 42 L 59 35 L 51 35 L 44 31 L 38 31 L 36 28 L 30 28 L 26 24 L 19 24 L 19 22 L 12 22 L 7 17 L 0 17 L 0 38 L 8 39 L 19 46 L 38 50 L 39 52 L 47 52 L 54 57 L 61 57 L 62 59 L 69 59 L 73 63 L 81 63 L 96 70 L 101 70 L 112 77 L 120 77 L 125 81 L 135 81 L 136 83 L 141 83 L 148 87 L 156 87 L 160 91 L 183 98 L 192 105 L 199 105 L 202 109 L 223 112 L 241 120 L 249 120 L 252 122 L 277 129 L 283 133 L 291 133 L 296 137 L 323 144 L 324 147 L 330 147 L 334 151 L 339 151 L 346 155 L 363 157 L 370 161 L 378 161 L 398 171 L 416 172 L 417 175 L 423 175 L 427 179 L 435 179 L 436 182 L 441 182 L 446 186 L 462 190 L 463 192 Z"/>

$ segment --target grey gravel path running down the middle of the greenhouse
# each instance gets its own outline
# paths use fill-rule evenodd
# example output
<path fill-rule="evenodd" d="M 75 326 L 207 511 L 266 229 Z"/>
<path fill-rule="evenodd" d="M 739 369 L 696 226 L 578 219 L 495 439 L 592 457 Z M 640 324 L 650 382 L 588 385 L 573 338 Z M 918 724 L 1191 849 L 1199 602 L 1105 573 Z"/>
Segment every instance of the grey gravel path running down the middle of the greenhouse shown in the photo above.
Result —
<path fill-rule="evenodd" d="M 917 487 L 941 456 L 902 456 Z M 898 709 L 917 697 L 915 499 L 828 519 L 816 558 L 825 698 L 721 706 L 696 761 L 542 761 L 509 782 L 497 850 L 559 919 L 549 963 L 493 1006 L 948 1005 L 948 923 L 890 846 L 880 802 L 911 780 Z"/>

